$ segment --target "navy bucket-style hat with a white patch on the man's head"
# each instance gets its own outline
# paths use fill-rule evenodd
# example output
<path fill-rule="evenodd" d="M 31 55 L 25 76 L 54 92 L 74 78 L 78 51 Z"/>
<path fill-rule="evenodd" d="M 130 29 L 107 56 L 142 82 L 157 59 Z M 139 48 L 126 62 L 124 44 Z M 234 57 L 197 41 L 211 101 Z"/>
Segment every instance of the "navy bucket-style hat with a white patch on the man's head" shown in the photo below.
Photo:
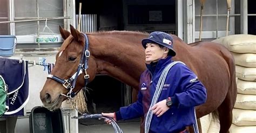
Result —
<path fill-rule="evenodd" d="M 176 52 L 173 50 L 173 38 L 165 32 L 152 32 L 149 37 L 142 40 L 142 45 L 146 48 L 147 43 L 157 43 L 158 45 L 169 48 L 168 55 L 175 56 Z"/>

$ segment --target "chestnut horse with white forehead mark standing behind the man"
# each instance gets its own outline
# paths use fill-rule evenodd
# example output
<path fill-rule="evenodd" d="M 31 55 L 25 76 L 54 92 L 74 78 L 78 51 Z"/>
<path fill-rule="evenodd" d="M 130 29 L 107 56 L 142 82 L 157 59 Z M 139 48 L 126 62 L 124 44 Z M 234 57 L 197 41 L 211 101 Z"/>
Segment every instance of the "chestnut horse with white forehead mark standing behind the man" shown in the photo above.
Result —
<path fill-rule="evenodd" d="M 85 36 L 73 26 L 71 33 L 60 27 L 65 40 L 56 55 L 55 68 L 51 74 L 69 79 L 77 71 L 79 60 L 85 47 Z M 71 35 L 70 35 L 71 34 Z M 141 40 L 148 34 L 131 31 L 111 31 L 86 33 L 89 41 L 90 57 L 87 74 L 89 82 L 100 73 L 139 89 L 140 74 L 146 69 L 144 48 Z M 232 109 L 237 97 L 234 58 L 225 47 L 213 42 L 196 42 L 187 45 L 177 36 L 173 60 L 184 62 L 192 69 L 207 89 L 206 103 L 196 107 L 197 117 L 218 112 L 220 132 L 228 132 L 232 123 Z M 84 86 L 84 73 L 78 76 L 74 92 Z M 111 91 L 111 90 L 110 90 Z M 54 110 L 66 100 L 63 94 L 69 90 L 56 80 L 47 79 L 40 93 L 43 105 Z"/>

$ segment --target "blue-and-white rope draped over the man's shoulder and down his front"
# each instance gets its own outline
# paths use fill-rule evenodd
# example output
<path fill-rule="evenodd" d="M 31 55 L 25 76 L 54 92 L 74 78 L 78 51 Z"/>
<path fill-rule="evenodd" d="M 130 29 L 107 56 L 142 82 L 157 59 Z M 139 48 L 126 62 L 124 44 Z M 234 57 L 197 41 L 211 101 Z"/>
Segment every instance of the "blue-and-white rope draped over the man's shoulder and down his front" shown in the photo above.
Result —
<path fill-rule="evenodd" d="M 180 61 L 174 61 L 174 62 L 170 63 L 169 65 L 167 65 L 167 67 L 165 67 L 164 71 L 161 73 L 161 76 L 160 76 L 160 78 L 158 80 L 158 83 L 157 83 L 156 91 L 154 92 L 154 95 L 153 95 L 153 99 L 152 99 L 152 102 L 151 102 L 151 105 L 150 105 L 150 108 L 149 108 L 149 112 L 147 112 L 147 115 L 146 115 L 145 128 L 144 128 L 145 133 L 149 132 L 151 120 L 152 120 L 152 117 L 153 117 L 153 112 L 152 112 L 151 108 L 157 103 L 158 98 L 160 97 L 161 90 L 164 86 L 167 73 L 173 67 L 173 65 L 175 65 L 177 63 L 184 64 L 183 62 L 180 62 Z M 196 120 L 196 109 L 194 110 L 194 116 L 195 116 L 195 122 L 193 124 L 194 132 L 198 133 L 197 120 Z"/>

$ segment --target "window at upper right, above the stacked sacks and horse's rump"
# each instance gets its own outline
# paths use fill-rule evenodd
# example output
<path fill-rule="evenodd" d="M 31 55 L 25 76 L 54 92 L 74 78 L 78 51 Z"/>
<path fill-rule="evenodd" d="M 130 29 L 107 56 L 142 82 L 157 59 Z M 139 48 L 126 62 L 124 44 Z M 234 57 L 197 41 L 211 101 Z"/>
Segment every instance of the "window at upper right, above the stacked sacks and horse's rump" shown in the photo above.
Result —
<path fill-rule="evenodd" d="M 235 6 L 232 1 L 232 10 L 230 12 L 230 21 L 228 26 L 228 34 L 235 34 Z M 195 20 L 195 38 L 199 38 L 200 32 L 200 1 L 195 1 L 196 20 Z M 239 17 L 240 19 L 240 17 Z M 203 31 L 201 38 L 214 39 L 226 36 L 226 20 L 227 20 L 227 1 L 213 0 L 205 1 L 203 10 Z M 240 27 L 239 27 L 240 28 Z"/>

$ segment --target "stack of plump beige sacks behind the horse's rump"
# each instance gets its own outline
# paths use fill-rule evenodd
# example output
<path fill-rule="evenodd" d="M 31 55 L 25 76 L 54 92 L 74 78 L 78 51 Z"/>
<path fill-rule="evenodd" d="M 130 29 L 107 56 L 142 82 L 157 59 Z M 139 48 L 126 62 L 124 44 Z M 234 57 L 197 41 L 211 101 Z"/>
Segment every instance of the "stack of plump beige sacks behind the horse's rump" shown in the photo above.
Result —
<path fill-rule="evenodd" d="M 223 44 L 235 59 L 238 94 L 230 132 L 256 132 L 256 35 L 230 35 L 213 42 Z"/>

